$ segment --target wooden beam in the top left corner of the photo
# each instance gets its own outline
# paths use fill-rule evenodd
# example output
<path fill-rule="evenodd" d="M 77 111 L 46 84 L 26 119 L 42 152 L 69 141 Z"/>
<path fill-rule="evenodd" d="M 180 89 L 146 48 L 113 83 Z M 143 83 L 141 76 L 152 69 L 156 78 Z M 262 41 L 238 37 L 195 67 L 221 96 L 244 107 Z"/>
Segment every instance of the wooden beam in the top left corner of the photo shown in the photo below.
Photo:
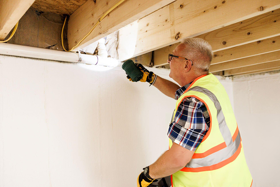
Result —
<path fill-rule="evenodd" d="M 0 1 L 0 40 L 3 41 L 35 0 Z"/>

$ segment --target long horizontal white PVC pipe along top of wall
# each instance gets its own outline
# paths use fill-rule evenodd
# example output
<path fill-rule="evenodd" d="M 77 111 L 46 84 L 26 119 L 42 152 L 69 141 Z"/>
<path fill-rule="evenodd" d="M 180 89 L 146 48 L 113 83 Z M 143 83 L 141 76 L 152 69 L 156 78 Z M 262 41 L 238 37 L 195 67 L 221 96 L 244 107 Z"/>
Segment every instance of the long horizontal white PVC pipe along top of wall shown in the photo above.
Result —
<path fill-rule="evenodd" d="M 79 61 L 78 53 L 7 43 L 0 43 L 0 54 L 65 62 L 79 62 L 83 64 L 103 65 L 109 67 L 116 67 L 119 64 L 118 60 L 114 58 L 105 58 L 98 55 L 80 54 L 81 61 Z"/>

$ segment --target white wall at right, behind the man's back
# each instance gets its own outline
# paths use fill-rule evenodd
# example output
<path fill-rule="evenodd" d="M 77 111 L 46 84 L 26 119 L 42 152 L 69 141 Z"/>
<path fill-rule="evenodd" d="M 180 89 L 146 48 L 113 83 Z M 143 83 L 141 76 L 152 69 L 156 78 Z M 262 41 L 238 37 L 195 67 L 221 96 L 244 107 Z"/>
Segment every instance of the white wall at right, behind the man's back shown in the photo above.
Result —
<path fill-rule="evenodd" d="M 278 187 L 280 73 L 233 79 L 236 120 L 254 187 Z"/>

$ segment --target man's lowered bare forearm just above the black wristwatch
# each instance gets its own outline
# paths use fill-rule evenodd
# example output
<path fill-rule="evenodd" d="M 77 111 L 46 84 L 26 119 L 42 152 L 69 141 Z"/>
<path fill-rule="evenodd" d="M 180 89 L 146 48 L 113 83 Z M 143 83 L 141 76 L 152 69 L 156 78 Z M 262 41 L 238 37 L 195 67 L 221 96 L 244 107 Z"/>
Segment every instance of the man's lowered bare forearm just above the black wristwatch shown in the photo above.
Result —
<path fill-rule="evenodd" d="M 172 175 L 184 167 L 178 163 L 180 162 L 178 162 L 168 150 L 163 153 L 155 163 L 149 166 L 149 175 L 153 179 Z"/>

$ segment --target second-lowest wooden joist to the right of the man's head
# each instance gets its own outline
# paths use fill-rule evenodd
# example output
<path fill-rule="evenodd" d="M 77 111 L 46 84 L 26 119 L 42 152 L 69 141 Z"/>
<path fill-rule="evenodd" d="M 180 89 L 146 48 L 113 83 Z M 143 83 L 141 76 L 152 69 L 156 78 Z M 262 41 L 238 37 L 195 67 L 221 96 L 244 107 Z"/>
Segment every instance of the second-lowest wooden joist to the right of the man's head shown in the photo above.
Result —
<path fill-rule="evenodd" d="M 272 62 L 276 60 L 280 60 L 280 50 L 271 53 L 265 53 L 262 55 L 251 56 L 248 58 L 232 60 L 220 64 L 214 64 L 210 66 L 210 72 L 230 70 L 230 69 L 241 68 L 250 65 Z"/>

